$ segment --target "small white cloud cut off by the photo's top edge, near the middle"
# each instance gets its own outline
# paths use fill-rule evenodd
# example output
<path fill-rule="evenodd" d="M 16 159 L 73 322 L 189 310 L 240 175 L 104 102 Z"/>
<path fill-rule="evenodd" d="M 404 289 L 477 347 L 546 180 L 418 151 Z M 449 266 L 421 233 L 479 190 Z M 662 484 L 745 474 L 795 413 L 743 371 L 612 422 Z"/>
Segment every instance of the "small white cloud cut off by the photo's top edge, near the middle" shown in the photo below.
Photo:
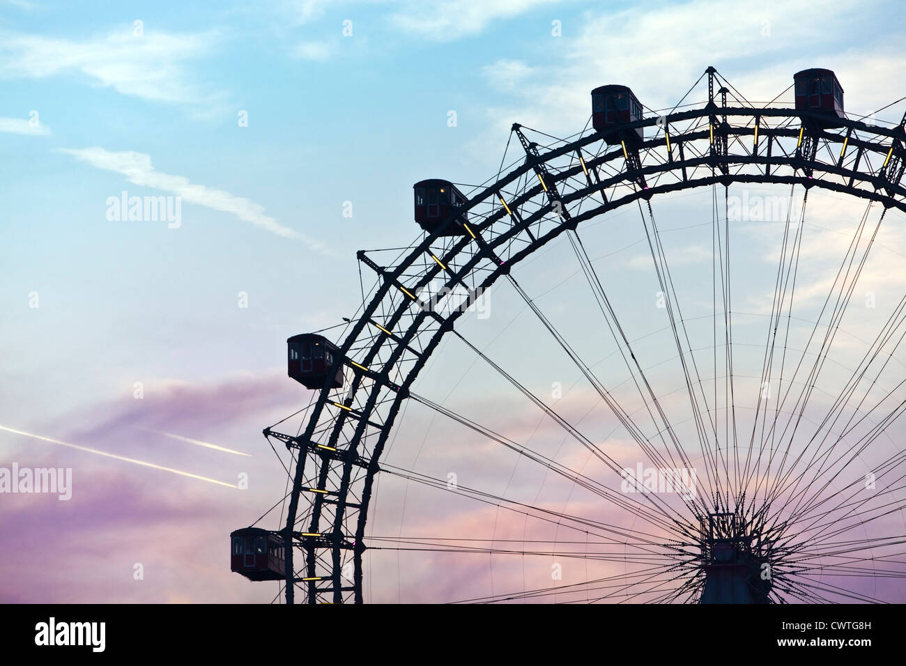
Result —
<path fill-rule="evenodd" d="M 430 40 L 450 42 L 479 34 L 499 19 L 513 18 L 556 0 L 432 0 L 406 3 L 390 22 L 407 33 Z"/>

